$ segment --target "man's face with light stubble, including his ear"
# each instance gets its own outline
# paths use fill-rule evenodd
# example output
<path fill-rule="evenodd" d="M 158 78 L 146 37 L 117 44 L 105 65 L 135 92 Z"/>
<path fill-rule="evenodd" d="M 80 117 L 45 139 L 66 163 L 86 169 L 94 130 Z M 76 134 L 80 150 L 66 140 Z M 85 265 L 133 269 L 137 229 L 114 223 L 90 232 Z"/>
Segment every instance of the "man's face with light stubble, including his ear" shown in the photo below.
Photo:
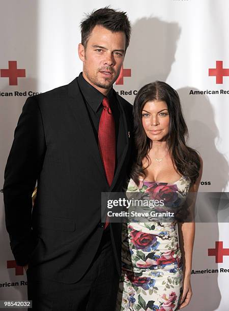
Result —
<path fill-rule="evenodd" d="M 126 36 L 124 32 L 112 33 L 96 25 L 86 49 L 79 44 L 79 58 L 83 61 L 83 77 L 106 95 L 118 79 L 123 65 Z"/>

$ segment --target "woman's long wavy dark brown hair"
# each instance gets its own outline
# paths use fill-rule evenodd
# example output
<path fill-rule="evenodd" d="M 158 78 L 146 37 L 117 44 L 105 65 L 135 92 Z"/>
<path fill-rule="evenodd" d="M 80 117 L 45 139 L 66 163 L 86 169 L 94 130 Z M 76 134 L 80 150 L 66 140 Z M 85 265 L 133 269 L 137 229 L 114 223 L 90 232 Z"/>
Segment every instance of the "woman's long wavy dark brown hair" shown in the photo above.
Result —
<path fill-rule="evenodd" d="M 152 140 L 146 135 L 142 126 L 142 109 L 149 101 L 165 101 L 169 113 L 169 132 L 167 137 L 168 152 L 176 171 L 195 183 L 201 167 L 199 155 L 196 150 L 188 147 L 188 128 L 186 126 L 180 98 L 175 89 L 165 82 L 155 81 L 149 83 L 138 91 L 133 104 L 134 135 L 135 135 L 135 162 L 131 170 L 131 178 L 139 185 L 139 177 L 146 178 L 142 168 L 142 160 L 150 158 L 148 152 L 152 148 Z M 146 168 L 145 168 L 146 169 Z"/>

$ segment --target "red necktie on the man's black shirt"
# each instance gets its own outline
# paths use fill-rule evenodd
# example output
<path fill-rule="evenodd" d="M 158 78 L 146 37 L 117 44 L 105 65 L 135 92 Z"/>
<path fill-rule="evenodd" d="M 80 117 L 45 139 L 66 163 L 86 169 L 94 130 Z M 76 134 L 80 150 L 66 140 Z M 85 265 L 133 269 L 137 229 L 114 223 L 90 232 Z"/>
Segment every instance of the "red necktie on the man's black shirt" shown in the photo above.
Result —
<path fill-rule="evenodd" d="M 110 186 L 113 180 L 113 175 L 115 173 L 115 163 L 116 163 L 115 120 L 113 119 L 113 115 L 107 97 L 104 97 L 102 105 L 103 111 L 99 121 L 98 142 L 103 167 L 106 173 L 106 179 Z M 107 217 L 104 229 L 106 229 L 108 224 L 109 220 Z"/>

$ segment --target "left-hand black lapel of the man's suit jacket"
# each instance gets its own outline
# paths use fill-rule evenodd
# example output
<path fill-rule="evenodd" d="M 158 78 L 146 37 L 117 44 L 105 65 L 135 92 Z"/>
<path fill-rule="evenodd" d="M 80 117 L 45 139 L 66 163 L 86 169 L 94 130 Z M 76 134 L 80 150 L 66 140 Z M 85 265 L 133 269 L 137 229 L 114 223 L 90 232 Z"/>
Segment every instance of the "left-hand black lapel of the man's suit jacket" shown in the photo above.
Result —
<path fill-rule="evenodd" d="M 107 184 L 106 175 L 105 175 L 105 171 L 103 168 L 98 144 L 95 139 L 95 134 L 93 132 L 93 128 L 91 125 L 91 121 L 88 115 L 87 108 L 85 107 L 83 97 L 79 90 L 77 78 L 75 78 L 69 84 L 69 106 L 76 119 L 76 124 L 78 125 L 81 135 L 82 137 L 84 137 L 85 143 L 90 146 L 90 149 L 92 150 L 91 154 L 95 160 L 95 163 L 100 173 L 104 177 L 104 181 Z M 108 184 L 107 184 L 107 188 L 108 188 Z"/>

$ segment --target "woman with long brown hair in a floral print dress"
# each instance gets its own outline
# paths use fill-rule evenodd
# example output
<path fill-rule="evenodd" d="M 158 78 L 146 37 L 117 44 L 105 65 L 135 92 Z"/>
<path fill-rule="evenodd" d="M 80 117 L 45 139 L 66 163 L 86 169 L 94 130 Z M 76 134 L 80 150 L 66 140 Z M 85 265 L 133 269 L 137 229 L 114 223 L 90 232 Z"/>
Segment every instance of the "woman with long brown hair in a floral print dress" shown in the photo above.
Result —
<path fill-rule="evenodd" d="M 187 201 L 198 190 L 203 163 L 186 145 L 188 130 L 176 90 L 164 82 L 149 83 L 133 106 L 137 154 L 127 192 L 151 197 L 173 192 L 173 200 Z M 194 231 L 194 222 L 123 225 L 117 310 L 174 311 L 189 303 Z"/>

